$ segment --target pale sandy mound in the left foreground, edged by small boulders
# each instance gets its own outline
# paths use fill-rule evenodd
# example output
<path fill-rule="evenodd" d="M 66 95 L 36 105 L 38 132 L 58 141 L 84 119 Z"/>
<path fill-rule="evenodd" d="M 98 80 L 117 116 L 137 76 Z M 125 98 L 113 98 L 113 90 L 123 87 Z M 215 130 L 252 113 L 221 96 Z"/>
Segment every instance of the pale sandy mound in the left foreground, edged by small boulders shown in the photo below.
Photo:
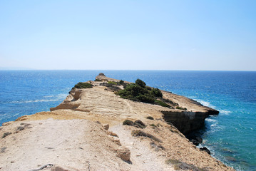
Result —
<path fill-rule="evenodd" d="M 14 133 L 21 123 L 29 126 Z M 35 170 L 47 164 L 69 170 L 130 170 L 116 156 L 120 146 L 90 120 L 36 120 L 1 128 L 1 135 L 12 134 L 1 138 L 0 170 Z"/>

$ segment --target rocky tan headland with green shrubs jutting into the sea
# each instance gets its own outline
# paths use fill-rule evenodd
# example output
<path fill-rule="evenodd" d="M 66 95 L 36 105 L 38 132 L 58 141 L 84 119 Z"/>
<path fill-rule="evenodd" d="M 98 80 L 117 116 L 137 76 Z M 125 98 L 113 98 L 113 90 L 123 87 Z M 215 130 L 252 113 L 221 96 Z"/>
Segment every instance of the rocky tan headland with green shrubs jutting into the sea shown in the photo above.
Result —
<path fill-rule="evenodd" d="M 100 73 L 50 112 L 4 123 L 0 170 L 233 170 L 185 138 L 218 113 Z"/>

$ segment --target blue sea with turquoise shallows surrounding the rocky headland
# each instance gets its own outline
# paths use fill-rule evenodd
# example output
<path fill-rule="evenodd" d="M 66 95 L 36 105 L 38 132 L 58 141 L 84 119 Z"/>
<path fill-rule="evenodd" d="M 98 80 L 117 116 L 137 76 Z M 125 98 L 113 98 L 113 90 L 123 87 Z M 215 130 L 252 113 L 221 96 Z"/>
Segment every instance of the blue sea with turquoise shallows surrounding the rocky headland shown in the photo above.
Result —
<path fill-rule="evenodd" d="M 168 90 L 220 111 L 200 130 L 203 146 L 235 170 L 256 170 L 256 72 L 242 71 L 0 71 L 0 124 L 49 111 L 78 82 L 111 78 Z"/>

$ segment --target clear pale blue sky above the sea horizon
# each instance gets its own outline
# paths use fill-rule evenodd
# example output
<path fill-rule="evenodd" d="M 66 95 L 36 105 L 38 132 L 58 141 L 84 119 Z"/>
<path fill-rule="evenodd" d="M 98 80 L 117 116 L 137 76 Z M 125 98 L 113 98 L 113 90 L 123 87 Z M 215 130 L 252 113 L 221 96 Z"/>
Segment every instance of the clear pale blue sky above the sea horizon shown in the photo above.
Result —
<path fill-rule="evenodd" d="M 0 1 L 0 67 L 256 71 L 256 1 Z"/>

